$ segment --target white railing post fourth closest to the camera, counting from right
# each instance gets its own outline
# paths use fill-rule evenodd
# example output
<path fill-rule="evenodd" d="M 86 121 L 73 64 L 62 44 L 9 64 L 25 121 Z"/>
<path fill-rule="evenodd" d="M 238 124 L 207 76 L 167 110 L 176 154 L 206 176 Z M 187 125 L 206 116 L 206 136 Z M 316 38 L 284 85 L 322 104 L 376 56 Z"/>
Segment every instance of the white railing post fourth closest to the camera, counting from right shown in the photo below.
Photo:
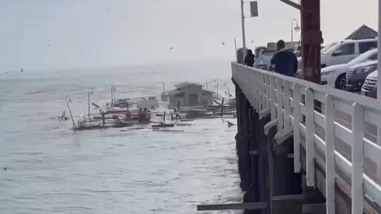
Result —
<path fill-rule="evenodd" d="M 294 172 L 300 172 L 300 90 L 299 85 L 293 85 L 293 115 L 294 115 Z"/>

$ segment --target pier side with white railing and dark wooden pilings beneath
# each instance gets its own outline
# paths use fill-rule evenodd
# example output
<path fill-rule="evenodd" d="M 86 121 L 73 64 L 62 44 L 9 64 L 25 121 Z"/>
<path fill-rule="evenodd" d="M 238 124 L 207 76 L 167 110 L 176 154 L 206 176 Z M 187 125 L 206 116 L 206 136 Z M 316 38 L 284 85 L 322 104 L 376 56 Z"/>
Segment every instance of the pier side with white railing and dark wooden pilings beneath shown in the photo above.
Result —
<path fill-rule="evenodd" d="M 232 63 L 245 213 L 381 213 L 381 105 Z"/>

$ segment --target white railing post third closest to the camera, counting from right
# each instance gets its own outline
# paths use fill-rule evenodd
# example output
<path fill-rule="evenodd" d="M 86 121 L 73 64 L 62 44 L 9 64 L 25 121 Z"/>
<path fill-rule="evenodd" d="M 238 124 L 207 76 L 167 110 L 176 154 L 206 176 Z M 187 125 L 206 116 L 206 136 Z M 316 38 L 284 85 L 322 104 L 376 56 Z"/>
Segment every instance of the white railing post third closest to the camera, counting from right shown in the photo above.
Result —
<path fill-rule="evenodd" d="M 314 92 L 306 88 L 306 175 L 307 186 L 315 186 L 315 121 L 314 121 Z"/>

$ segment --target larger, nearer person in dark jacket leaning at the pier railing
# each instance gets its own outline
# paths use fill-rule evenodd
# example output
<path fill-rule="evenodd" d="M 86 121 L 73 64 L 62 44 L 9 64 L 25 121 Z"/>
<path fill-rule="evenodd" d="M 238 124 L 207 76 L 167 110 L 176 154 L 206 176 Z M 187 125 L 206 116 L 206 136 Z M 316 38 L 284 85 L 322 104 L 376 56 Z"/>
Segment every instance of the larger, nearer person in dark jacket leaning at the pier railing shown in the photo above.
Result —
<path fill-rule="evenodd" d="M 271 64 L 275 65 L 275 72 L 290 77 L 295 77 L 298 70 L 298 60 L 292 50 L 285 49 L 283 40 L 277 42 L 277 53 L 271 58 Z"/>

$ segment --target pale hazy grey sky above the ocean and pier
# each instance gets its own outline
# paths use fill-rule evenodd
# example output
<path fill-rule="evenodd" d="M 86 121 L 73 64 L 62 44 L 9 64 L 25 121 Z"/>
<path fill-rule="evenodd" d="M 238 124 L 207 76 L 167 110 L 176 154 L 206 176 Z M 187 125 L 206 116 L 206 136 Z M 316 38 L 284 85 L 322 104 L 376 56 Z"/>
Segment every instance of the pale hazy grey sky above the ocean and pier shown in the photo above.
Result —
<path fill-rule="evenodd" d="M 239 2 L 1 0 L 0 71 L 234 59 L 234 38 L 242 44 Z M 258 0 L 258 7 L 259 17 L 246 21 L 248 46 L 290 40 L 299 12 L 279 0 Z M 377 30 L 377 8 L 376 0 L 321 0 L 325 43 L 362 24 Z"/>

